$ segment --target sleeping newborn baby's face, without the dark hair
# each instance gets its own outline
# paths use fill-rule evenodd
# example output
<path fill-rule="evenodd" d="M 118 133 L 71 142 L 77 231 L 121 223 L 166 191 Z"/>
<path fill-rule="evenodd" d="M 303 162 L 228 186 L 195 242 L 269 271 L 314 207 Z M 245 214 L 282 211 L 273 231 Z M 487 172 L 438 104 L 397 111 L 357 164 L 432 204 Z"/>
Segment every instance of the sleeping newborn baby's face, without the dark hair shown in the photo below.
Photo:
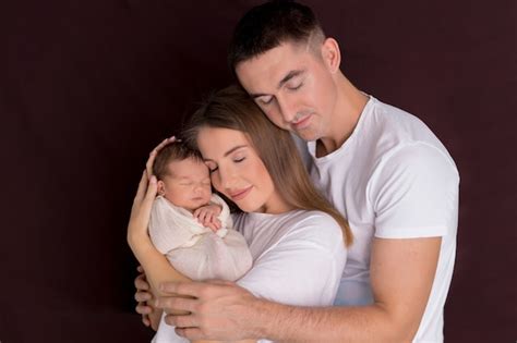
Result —
<path fill-rule="evenodd" d="M 190 211 L 208 204 L 212 196 L 208 168 L 188 158 L 167 166 L 168 175 L 158 182 L 158 191 L 173 205 Z"/>

